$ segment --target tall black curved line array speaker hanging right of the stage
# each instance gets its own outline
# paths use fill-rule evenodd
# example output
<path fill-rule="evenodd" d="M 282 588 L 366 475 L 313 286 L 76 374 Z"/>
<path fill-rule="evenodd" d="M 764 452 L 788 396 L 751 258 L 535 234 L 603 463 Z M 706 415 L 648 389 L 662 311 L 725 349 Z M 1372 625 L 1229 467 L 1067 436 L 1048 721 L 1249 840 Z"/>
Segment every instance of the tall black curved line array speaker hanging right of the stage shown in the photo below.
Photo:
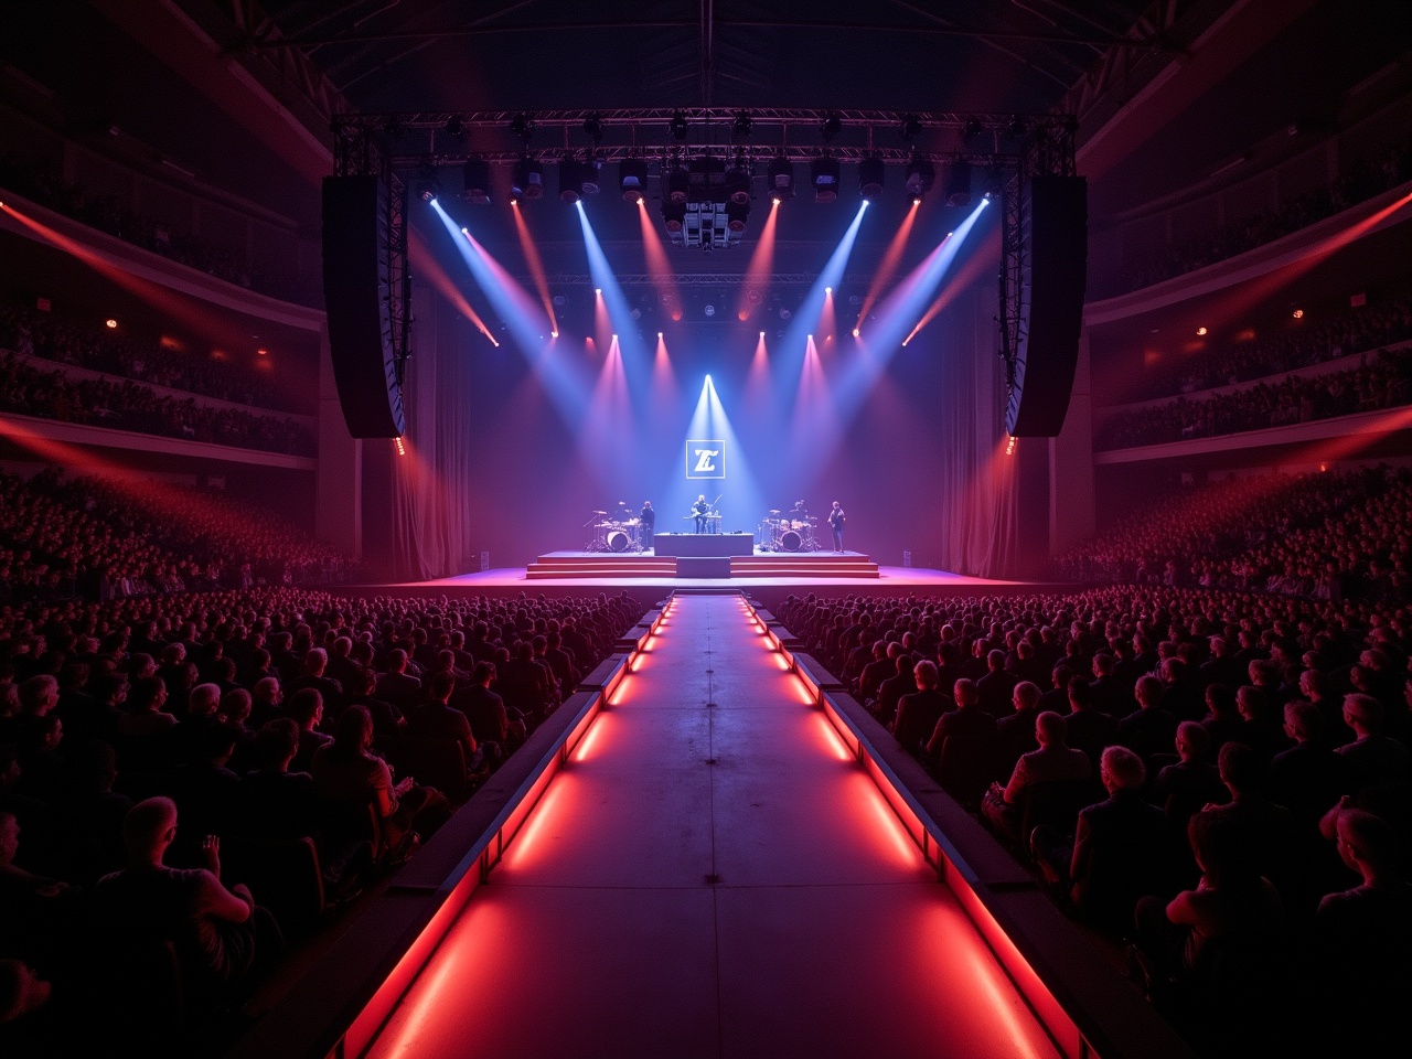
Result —
<path fill-rule="evenodd" d="M 1015 438 L 1055 438 L 1069 411 L 1079 361 L 1089 268 L 1087 179 L 1031 178 L 1022 216 L 1025 311 L 1005 429 Z"/>

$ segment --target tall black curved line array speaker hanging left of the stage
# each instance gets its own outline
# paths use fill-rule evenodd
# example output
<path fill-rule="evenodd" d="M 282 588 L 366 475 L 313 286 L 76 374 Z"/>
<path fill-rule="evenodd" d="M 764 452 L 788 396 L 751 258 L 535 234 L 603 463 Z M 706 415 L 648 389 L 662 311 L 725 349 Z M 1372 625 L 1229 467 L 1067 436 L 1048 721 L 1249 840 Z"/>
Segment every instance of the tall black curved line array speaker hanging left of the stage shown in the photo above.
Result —
<path fill-rule="evenodd" d="M 354 438 L 397 438 L 405 428 L 394 356 L 387 195 L 377 176 L 323 178 L 329 353 Z"/>

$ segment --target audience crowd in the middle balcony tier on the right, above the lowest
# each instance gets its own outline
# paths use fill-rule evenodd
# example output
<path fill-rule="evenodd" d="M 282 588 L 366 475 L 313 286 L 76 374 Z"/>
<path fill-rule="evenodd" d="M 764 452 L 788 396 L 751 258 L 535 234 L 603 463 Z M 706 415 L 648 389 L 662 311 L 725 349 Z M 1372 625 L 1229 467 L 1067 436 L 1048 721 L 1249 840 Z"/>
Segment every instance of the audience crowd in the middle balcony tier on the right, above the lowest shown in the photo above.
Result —
<path fill-rule="evenodd" d="M 1147 371 L 1137 390 L 1106 394 L 1100 400 L 1106 404 L 1147 401 L 1236 385 L 1409 339 L 1412 339 L 1412 297 L 1401 297 L 1380 306 L 1348 309 L 1322 326 L 1302 326 L 1282 335 L 1213 346 L 1183 356 L 1166 367 Z"/>

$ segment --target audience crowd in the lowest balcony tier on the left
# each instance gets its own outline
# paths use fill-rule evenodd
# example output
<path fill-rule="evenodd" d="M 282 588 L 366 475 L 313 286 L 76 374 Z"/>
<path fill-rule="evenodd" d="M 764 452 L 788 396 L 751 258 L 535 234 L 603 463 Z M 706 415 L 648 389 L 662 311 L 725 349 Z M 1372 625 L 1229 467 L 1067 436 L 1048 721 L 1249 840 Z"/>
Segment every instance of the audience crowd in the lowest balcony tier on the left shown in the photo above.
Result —
<path fill-rule="evenodd" d="M 13 353 L 0 353 L 0 411 L 292 456 L 315 453 L 313 435 L 294 419 L 208 408 L 193 397 L 160 397 L 140 383 L 69 378 Z"/>

